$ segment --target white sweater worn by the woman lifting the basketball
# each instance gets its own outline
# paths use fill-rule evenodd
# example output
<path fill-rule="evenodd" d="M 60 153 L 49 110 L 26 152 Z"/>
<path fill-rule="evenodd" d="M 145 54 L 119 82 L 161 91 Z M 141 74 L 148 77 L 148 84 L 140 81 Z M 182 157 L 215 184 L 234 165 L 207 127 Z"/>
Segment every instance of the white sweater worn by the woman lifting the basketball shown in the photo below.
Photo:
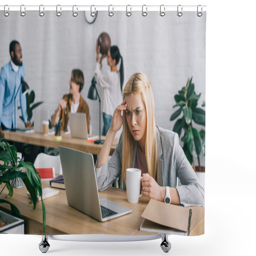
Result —
<path fill-rule="evenodd" d="M 96 62 L 94 73 L 97 85 L 103 88 L 102 112 L 113 116 L 116 107 L 122 103 L 120 74 L 114 71 L 102 73 L 99 62 Z"/>

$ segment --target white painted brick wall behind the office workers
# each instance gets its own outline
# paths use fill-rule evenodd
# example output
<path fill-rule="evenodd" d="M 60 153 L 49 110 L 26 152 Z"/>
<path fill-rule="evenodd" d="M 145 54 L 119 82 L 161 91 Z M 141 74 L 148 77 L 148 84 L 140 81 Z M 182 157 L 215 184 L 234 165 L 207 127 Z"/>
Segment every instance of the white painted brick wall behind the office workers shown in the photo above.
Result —
<path fill-rule="evenodd" d="M 0 66 L 10 60 L 9 44 L 20 42 L 25 80 L 35 91 L 37 101 L 44 101 L 43 108 L 53 113 L 63 94 L 69 92 L 71 70 L 84 72 L 85 84 L 81 92 L 90 107 L 92 133 L 98 134 L 99 103 L 87 99 L 95 68 L 96 39 L 106 31 L 112 45 L 117 45 L 124 60 L 124 85 L 134 72 L 145 73 L 155 99 L 156 123 L 172 130 L 175 121 L 170 116 L 176 110 L 174 95 L 193 76 L 196 93 L 202 93 L 199 107 L 205 100 L 205 20 L 206 14 L 197 17 L 186 12 L 98 12 L 96 21 L 89 25 L 84 12 L 73 17 L 71 12 L 47 11 L 40 17 L 37 11 L 29 11 L 25 17 L 12 12 L 9 17 L 0 16 Z M 2 36 L 4 35 L 4 36 Z M 108 68 L 107 63 L 103 65 Z M 99 90 L 102 95 L 102 90 Z M 22 125 L 20 123 L 20 125 Z M 196 126 L 196 125 L 195 125 Z"/>

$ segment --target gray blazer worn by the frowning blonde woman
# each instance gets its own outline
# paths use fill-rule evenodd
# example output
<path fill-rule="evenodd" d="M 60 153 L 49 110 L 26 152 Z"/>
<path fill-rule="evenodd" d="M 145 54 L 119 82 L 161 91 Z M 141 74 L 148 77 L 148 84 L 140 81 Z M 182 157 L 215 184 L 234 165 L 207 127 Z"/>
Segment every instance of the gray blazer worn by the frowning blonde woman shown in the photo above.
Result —
<path fill-rule="evenodd" d="M 180 203 L 184 206 L 202 205 L 204 206 L 204 189 L 202 188 L 195 171 L 189 164 L 183 149 L 180 147 L 177 133 L 164 130 L 156 125 L 158 173 L 157 182 L 159 186 L 177 186 L 177 177 L 181 186 L 176 187 Z M 134 167 L 137 141 L 133 150 Z M 108 162 L 96 169 L 98 189 L 107 189 L 122 171 L 122 147 L 123 133 L 120 135 L 119 143 Z M 121 188 L 125 189 L 124 184 Z"/>

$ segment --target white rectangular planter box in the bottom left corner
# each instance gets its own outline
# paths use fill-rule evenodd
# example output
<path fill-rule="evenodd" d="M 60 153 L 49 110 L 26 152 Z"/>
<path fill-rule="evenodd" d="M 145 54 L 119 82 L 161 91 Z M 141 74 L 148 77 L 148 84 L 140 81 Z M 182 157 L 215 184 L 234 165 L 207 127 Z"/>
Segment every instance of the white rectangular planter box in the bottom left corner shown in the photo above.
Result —
<path fill-rule="evenodd" d="M 8 225 L 5 225 L 0 228 L 0 233 L 5 234 L 25 234 L 25 220 L 14 217 L 9 213 L 3 212 L 0 210 L 0 218 L 5 222 L 8 222 Z"/>

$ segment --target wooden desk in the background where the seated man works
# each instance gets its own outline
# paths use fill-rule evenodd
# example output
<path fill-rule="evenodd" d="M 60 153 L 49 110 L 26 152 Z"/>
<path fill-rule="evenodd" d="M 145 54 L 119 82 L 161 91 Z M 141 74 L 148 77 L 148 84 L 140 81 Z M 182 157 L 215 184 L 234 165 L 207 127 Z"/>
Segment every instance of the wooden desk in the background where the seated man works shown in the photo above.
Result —
<path fill-rule="evenodd" d="M 43 134 L 36 132 L 25 133 L 19 131 L 11 132 L 10 130 L 4 130 L 0 133 L 0 137 L 6 140 L 51 148 L 58 148 L 59 146 L 64 146 L 67 148 L 73 148 L 95 155 L 100 154 L 102 145 L 94 144 L 93 142 L 88 142 L 84 139 L 71 138 L 70 134 L 64 134 L 64 132 L 61 133 L 61 136 L 62 140 L 54 140 L 54 135 L 44 136 Z M 104 140 L 106 136 L 101 136 L 101 138 L 102 140 Z M 118 141 L 118 138 L 114 139 L 113 145 L 110 150 L 110 155 L 114 153 Z"/>

